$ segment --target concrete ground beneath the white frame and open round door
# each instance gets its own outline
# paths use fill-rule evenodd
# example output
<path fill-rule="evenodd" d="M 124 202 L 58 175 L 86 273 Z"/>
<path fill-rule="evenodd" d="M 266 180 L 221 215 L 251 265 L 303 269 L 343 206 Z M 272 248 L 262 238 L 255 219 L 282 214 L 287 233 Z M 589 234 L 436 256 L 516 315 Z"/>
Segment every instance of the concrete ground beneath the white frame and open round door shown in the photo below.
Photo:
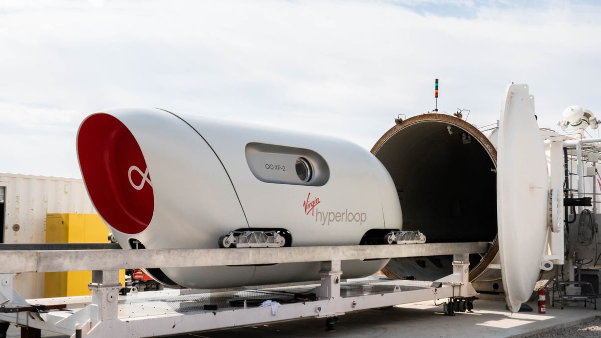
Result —
<path fill-rule="evenodd" d="M 442 306 L 433 302 L 395 306 L 383 310 L 365 310 L 340 316 L 335 332 L 325 331 L 325 319 L 301 319 L 227 330 L 204 331 L 175 337 L 526 337 L 554 328 L 567 327 L 601 316 L 599 310 L 578 303 L 560 309 L 548 303 L 546 315 L 538 315 L 536 302 L 528 303 L 533 312 L 512 314 L 504 301 L 477 300 L 474 313 L 442 315 Z M 8 337 L 20 337 L 11 325 Z M 43 337 L 66 337 L 43 332 Z"/>

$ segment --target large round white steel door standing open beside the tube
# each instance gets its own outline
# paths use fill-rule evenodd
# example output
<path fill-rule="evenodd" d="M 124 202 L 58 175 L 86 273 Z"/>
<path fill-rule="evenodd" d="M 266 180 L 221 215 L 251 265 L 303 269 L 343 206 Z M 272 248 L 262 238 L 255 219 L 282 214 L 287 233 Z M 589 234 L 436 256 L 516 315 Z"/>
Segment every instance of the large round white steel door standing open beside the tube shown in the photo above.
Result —
<path fill-rule="evenodd" d="M 546 165 L 534 96 L 528 93 L 528 85 L 509 85 L 499 124 L 497 208 L 501 274 L 513 312 L 531 297 L 543 268 L 549 232 Z"/>

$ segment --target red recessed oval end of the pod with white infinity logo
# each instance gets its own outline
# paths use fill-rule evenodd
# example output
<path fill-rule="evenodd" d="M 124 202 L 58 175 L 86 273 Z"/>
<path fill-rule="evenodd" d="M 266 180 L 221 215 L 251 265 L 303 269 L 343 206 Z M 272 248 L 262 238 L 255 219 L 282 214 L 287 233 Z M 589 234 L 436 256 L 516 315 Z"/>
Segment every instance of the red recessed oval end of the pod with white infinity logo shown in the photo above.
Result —
<path fill-rule="evenodd" d="M 79 128 L 77 145 L 85 186 L 99 214 L 123 233 L 146 229 L 154 193 L 144 155 L 129 129 L 109 114 L 94 114 Z"/>

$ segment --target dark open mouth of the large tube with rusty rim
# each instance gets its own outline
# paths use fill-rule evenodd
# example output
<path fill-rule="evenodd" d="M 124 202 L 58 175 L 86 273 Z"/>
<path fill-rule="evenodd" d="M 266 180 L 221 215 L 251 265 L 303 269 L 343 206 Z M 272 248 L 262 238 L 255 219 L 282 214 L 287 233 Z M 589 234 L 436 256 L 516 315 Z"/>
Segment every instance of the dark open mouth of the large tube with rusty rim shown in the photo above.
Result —
<path fill-rule="evenodd" d="M 496 149 L 486 136 L 460 118 L 423 114 L 389 129 L 371 152 L 394 180 L 403 230 L 420 230 L 430 243 L 492 242 L 483 257 L 470 255 L 470 280 L 489 274 L 498 254 Z M 452 260 L 392 259 L 383 272 L 436 280 L 453 272 Z"/>

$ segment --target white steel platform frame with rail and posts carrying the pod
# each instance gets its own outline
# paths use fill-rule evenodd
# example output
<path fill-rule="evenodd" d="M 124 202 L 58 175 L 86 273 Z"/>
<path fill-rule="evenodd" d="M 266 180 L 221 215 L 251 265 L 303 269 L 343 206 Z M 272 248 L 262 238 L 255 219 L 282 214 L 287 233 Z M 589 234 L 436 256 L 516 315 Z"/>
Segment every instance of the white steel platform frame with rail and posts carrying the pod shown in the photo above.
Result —
<path fill-rule="evenodd" d="M 331 326 L 334 325 L 332 318 L 347 312 L 445 298 L 471 306 L 477 293 L 468 281 L 469 262 L 465 258 L 469 253 L 484 253 L 488 249 L 488 243 L 474 242 L 240 250 L 149 249 L 145 255 L 135 250 L 0 251 L 2 259 L 14 262 L 0 266 L 0 322 L 72 337 L 150 337 L 307 317 L 326 318 Z M 262 253 L 269 251 L 273 254 L 263 257 Z M 210 253 L 211 259 L 201 257 L 200 253 Z M 341 280 L 344 275 L 341 260 L 344 259 L 433 254 L 454 254 L 454 273 L 433 282 Z M 73 260 L 74 255 L 84 259 Z M 325 257 L 331 258 L 326 260 Z M 130 264 L 151 267 L 169 260 L 171 266 L 210 266 L 224 261 L 246 265 L 273 263 L 278 259 L 321 262 L 321 280 L 316 284 L 270 286 L 261 290 L 222 289 L 200 293 L 200 290 L 174 289 L 119 295 L 118 268 Z M 17 272 L 83 269 L 93 270 L 92 283 L 88 284 L 91 296 L 23 300 L 13 289 L 12 281 Z M 265 290 L 269 290 L 269 297 Z M 271 300 L 267 302 L 269 306 L 257 307 L 266 300 Z"/>

